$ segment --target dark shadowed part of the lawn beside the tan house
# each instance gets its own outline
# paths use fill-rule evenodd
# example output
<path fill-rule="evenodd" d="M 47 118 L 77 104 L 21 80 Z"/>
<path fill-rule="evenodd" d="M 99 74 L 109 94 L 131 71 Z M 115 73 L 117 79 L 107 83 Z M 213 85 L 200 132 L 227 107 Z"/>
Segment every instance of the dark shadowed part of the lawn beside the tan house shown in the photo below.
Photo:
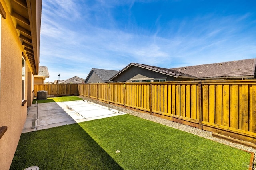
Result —
<path fill-rule="evenodd" d="M 78 124 L 23 133 L 10 170 L 122 169 Z"/>

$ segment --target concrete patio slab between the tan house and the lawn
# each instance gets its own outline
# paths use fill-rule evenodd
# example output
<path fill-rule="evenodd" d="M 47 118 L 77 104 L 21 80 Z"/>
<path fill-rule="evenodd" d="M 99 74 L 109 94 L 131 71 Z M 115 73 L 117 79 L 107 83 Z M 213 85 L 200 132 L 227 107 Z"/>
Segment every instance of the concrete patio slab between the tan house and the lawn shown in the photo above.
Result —
<path fill-rule="evenodd" d="M 22 133 L 123 114 L 126 113 L 83 100 L 32 104 Z"/>

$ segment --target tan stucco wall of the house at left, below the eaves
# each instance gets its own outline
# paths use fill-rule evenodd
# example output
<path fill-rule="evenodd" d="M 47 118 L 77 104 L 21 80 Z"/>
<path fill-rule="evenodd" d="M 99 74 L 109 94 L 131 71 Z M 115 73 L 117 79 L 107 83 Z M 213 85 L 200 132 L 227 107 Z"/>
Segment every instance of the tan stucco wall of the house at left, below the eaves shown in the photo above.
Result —
<path fill-rule="evenodd" d="M 34 2 L 37 3 L 38 0 Z M 39 7 L 40 2 L 42 1 L 39 1 Z M 33 70 L 19 38 L 17 24 L 10 15 L 12 3 L 10 0 L 1 0 L 0 3 L 0 127 L 7 127 L 7 131 L 0 138 L 0 169 L 8 170 L 26 121 L 27 107 L 32 104 L 34 96 L 32 83 L 36 67 Z M 4 18 L 2 14 L 6 14 Z M 22 58 L 25 59 L 24 67 Z M 38 64 L 39 61 L 36 62 L 36 65 Z M 22 100 L 22 74 L 25 74 L 24 100 Z"/>

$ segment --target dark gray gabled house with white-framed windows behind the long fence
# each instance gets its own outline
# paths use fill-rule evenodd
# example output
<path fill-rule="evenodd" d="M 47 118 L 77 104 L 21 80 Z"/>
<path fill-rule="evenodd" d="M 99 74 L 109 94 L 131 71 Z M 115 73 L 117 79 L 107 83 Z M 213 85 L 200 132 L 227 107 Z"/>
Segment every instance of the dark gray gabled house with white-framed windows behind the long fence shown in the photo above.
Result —
<path fill-rule="evenodd" d="M 176 70 L 130 63 L 110 78 L 113 82 L 165 82 L 194 80 L 195 77 Z"/>

